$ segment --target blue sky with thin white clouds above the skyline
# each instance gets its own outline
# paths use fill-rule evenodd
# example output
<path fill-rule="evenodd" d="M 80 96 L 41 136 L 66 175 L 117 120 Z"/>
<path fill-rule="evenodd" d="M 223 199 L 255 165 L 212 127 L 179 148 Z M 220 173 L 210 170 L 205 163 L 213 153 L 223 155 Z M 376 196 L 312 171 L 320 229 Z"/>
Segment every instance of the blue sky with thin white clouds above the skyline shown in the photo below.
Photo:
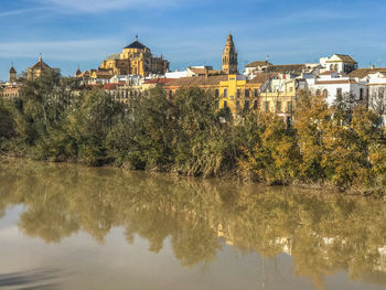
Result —
<path fill-rule="evenodd" d="M 39 53 L 64 75 L 97 67 L 136 33 L 172 69 L 219 68 L 229 31 L 239 69 L 267 54 L 275 64 L 345 53 L 386 66 L 386 0 L 0 0 L 0 79 Z"/>

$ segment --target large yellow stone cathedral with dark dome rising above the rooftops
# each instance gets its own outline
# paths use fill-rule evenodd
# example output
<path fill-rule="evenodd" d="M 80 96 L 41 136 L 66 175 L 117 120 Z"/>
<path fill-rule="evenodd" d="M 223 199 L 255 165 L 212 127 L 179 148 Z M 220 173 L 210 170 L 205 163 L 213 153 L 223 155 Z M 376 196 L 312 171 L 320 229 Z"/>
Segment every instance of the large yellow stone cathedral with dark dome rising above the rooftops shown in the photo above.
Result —
<path fill-rule="evenodd" d="M 114 75 L 164 74 L 169 71 L 169 62 L 163 57 L 152 55 L 150 49 L 136 41 L 126 46 L 121 53 L 108 56 L 100 64 L 98 71 L 111 69 Z"/>

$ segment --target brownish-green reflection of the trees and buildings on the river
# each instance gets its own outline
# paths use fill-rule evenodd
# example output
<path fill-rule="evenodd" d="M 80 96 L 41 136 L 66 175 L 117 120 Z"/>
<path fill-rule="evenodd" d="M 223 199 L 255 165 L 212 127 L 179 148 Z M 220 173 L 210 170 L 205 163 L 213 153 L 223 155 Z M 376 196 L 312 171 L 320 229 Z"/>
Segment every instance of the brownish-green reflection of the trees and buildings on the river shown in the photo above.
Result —
<path fill-rule="evenodd" d="M 103 244 L 122 227 L 128 244 L 139 235 L 153 253 L 169 238 L 184 267 L 214 261 L 227 244 L 266 258 L 286 253 L 294 273 L 320 289 L 324 277 L 342 270 L 386 286 L 386 206 L 379 201 L 7 159 L 0 184 L 0 217 L 22 204 L 19 228 L 46 243 L 82 230 Z"/>

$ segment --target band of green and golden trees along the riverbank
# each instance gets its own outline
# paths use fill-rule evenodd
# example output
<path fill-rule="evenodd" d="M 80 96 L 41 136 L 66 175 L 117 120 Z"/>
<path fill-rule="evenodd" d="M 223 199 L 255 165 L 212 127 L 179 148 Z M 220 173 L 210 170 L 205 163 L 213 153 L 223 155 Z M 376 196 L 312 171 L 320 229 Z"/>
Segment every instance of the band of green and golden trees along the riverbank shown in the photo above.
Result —
<path fill-rule="evenodd" d="M 2 154 L 385 193 L 383 112 L 351 96 L 329 107 L 304 93 L 287 127 L 275 114 L 251 109 L 234 118 L 200 88 L 180 89 L 172 99 L 153 88 L 128 104 L 101 89 L 75 88 L 74 79 L 52 72 L 25 80 L 19 98 L 1 100 Z"/>

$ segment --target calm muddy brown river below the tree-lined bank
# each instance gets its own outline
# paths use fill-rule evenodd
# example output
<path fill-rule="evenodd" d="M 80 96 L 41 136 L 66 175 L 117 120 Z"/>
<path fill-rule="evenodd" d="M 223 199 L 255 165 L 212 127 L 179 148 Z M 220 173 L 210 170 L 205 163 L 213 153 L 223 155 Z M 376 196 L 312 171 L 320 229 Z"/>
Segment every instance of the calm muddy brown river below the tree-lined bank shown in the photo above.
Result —
<path fill-rule="evenodd" d="M 0 159 L 2 289 L 386 289 L 386 204 Z"/>

